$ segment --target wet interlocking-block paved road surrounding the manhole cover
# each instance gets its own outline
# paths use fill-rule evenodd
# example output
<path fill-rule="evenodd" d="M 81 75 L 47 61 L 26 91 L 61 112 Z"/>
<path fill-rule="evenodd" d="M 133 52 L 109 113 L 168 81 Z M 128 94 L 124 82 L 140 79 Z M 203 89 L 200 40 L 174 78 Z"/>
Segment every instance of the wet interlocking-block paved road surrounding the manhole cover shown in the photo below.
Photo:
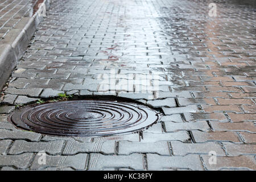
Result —
<path fill-rule="evenodd" d="M 211 1 L 51 1 L 2 91 L 0 169 L 255 170 L 255 6 L 214 2 L 216 17 Z M 155 82 L 159 92 L 147 90 Z M 140 133 L 94 138 L 7 121 L 15 106 L 64 92 L 130 98 L 163 117 Z"/>

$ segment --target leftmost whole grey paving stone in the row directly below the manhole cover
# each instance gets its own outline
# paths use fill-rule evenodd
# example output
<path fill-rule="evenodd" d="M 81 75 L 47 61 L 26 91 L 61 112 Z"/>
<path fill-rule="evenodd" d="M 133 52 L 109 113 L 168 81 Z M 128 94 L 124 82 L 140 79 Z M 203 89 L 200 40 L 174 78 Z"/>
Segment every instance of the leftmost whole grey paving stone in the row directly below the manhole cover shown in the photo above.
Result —
<path fill-rule="evenodd" d="M 45 151 L 47 154 L 60 154 L 64 146 L 64 141 L 55 140 L 52 142 L 26 142 L 24 140 L 15 140 L 10 148 L 9 154 L 22 154 L 24 152 Z"/>

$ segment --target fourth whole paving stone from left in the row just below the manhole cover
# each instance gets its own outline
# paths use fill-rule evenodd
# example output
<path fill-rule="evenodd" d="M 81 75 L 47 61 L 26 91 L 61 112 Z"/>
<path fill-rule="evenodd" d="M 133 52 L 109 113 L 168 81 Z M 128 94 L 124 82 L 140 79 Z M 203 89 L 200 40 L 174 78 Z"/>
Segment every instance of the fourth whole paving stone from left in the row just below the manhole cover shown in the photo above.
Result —
<path fill-rule="evenodd" d="M 216 152 L 217 156 L 225 156 L 224 150 L 217 142 L 206 143 L 182 143 L 179 141 L 171 141 L 172 152 L 174 155 L 188 155 L 188 154 L 205 154 L 208 155 L 210 151 Z"/>

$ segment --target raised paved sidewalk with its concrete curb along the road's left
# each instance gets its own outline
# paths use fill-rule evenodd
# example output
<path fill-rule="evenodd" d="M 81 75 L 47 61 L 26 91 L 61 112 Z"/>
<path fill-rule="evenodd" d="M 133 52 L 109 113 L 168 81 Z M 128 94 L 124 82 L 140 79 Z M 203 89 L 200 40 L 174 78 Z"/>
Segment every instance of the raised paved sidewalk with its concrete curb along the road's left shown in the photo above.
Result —
<path fill-rule="evenodd" d="M 0 1 L 0 90 L 22 58 L 50 0 Z"/>

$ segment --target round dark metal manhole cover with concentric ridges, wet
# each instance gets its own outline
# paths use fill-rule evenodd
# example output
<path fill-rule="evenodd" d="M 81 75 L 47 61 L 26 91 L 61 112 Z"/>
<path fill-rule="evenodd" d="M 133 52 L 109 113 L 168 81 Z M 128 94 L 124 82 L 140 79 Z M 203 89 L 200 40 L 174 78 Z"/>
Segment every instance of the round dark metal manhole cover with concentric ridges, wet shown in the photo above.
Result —
<path fill-rule="evenodd" d="M 152 125 L 159 115 L 132 102 L 62 101 L 26 106 L 10 115 L 18 128 L 59 136 L 107 136 L 130 133 Z"/>

